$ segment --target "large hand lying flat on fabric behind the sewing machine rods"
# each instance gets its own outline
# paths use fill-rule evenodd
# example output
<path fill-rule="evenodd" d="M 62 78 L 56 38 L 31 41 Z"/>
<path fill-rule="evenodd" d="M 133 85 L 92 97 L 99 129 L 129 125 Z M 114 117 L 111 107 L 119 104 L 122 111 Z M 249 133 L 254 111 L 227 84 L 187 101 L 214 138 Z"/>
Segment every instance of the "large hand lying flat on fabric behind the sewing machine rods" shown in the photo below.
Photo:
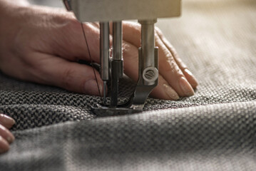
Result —
<path fill-rule="evenodd" d="M 8 12 L 15 11 L 14 12 Z M 2 18 L 3 15 L 0 15 Z M 6 19 L 7 17 L 7 19 Z M 99 63 L 99 28 L 83 24 L 93 61 Z M 173 46 L 159 29 L 155 31 L 159 47 L 158 86 L 151 95 L 165 100 L 194 94 L 198 83 Z M 9 6 L 0 19 L 0 69 L 9 76 L 58 86 L 78 93 L 99 95 L 81 24 L 71 12 L 39 6 Z M 123 58 L 126 75 L 137 81 L 140 25 L 123 22 Z M 103 81 L 96 73 L 101 93 Z"/>

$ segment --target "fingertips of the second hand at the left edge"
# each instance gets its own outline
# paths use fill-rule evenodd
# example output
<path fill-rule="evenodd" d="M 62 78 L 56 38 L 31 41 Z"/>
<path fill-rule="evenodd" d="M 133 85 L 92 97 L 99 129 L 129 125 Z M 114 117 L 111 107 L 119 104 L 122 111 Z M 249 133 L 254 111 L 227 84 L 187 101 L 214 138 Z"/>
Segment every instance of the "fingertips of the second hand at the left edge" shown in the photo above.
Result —
<path fill-rule="evenodd" d="M 15 121 L 7 115 L 0 114 L 0 154 L 9 150 L 9 144 L 14 141 L 14 135 L 8 130 Z"/>

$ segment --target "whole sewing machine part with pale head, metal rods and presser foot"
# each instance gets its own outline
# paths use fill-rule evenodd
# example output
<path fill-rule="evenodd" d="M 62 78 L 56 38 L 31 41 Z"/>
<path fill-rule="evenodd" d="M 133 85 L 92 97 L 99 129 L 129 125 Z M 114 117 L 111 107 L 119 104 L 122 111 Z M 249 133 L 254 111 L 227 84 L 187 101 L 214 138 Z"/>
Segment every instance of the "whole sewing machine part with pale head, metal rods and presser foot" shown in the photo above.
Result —
<path fill-rule="evenodd" d="M 78 21 L 100 23 L 100 73 L 104 83 L 103 103 L 93 108 L 96 115 L 121 115 L 143 110 L 145 100 L 158 84 L 158 47 L 155 23 L 158 18 L 180 16 L 180 0 L 63 0 Z M 138 48 L 138 82 L 126 103 L 118 103 L 118 82 L 123 76 L 122 21 L 138 19 L 141 47 Z M 113 51 L 110 56 L 109 22 L 113 23 Z M 106 103 L 107 83 L 111 102 Z"/>

